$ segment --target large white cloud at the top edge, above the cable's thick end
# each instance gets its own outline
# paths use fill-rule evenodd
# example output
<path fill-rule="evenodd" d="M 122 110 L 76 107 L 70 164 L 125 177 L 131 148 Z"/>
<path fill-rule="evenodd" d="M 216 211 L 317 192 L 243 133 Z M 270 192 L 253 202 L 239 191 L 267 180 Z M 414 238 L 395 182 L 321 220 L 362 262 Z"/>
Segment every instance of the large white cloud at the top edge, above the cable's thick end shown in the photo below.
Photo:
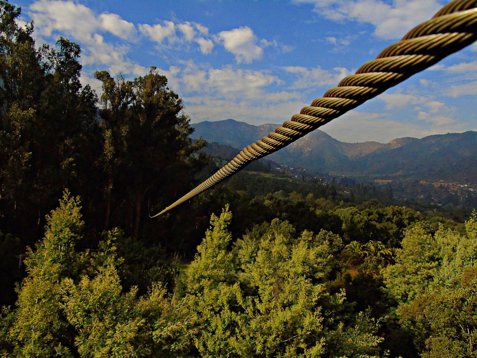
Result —
<path fill-rule="evenodd" d="M 314 11 L 334 21 L 352 20 L 374 25 L 382 39 L 401 38 L 422 21 L 430 19 L 442 6 L 439 0 L 294 0 L 311 3 Z"/>

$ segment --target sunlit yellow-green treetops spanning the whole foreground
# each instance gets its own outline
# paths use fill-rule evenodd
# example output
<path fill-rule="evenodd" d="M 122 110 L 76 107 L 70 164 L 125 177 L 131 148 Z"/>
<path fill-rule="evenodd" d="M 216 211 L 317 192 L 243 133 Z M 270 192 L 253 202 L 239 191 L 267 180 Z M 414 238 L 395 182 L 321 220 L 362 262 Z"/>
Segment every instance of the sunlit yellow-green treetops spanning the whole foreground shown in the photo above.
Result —
<path fill-rule="evenodd" d="M 299 194 L 289 200 L 327 205 Z M 234 241 L 226 207 L 212 215 L 176 286 L 176 269 L 161 250 L 119 229 L 104 233 L 99 250 L 78 252 L 80 210 L 65 192 L 43 240 L 28 250 L 16 308 L 1 316 L 1 353 L 379 357 L 386 347 L 394 356 L 415 349 L 428 358 L 474 355 L 475 216 L 466 235 L 413 224 L 394 254 L 379 241 L 343 247 L 332 232 L 299 234 L 279 219 Z M 399 346 L 406 340 L 409 347 Z"/>

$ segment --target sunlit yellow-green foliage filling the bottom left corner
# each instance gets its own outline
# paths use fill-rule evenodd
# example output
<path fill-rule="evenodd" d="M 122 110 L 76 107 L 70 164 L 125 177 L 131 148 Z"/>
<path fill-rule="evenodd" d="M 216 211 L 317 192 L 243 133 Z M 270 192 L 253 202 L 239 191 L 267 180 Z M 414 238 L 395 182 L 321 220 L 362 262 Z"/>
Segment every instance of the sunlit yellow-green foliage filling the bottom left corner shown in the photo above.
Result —
<path fill-rule="evenodd" d="M 155 282 L 141 298 L 134 286 L 124 292 L 117 267 L 126 260 L 117 257 L 115 247 L 118 238 L 124 239 L 117 229 L 105 233 L 97 252 L 78 253 L 75 244 L 84 227 L 80 210 L 79 198 L 66 191 L 47 218 L 44 239 L 35 250 L 28 249 L 28 276 L 19 288 L 16 309 L 2 312 L 0 330 L 8 334 L 1 337 L 0 352 L 161 357 L 154 353 L 152 333 L 162 310 L 170 311 L 166 290 Z"/>

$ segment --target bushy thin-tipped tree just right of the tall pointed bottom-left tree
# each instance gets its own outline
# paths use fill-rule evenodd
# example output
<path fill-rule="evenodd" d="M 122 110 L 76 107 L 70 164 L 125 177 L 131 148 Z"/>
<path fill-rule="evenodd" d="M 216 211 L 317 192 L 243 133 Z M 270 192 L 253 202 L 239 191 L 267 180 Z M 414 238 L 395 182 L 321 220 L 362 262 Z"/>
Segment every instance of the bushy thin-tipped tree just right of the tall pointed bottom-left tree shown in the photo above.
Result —
<path fill-rule="evenodd" d="M 74 327 L 74 345 L 81 356 L 153 357 L 153 323 L 164 304 L 166 291 L 154 284 L 150 295 L 138 299 L 137 288 L 123 292 L 114 242 L 120 232 L 107 233 L 92 257 L 93 273 L 61 283 L 62 309 Z M 157 316 L 156 316 L 157 315 Z M 156 350 L 157 349 L 156 347 Z"/>

